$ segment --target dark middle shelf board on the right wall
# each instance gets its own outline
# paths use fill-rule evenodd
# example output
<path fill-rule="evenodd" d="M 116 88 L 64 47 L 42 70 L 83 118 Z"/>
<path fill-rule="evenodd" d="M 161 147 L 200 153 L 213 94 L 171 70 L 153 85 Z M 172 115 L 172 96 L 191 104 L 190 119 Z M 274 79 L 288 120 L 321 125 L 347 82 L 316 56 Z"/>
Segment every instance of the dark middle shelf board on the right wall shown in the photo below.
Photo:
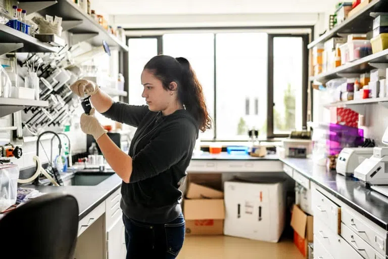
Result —
<path fill-rule="evenodd" d="M 335 69 L 320 73 L 317 76 L 310 77 L 311 81 L 319 81 L 319 82 L 327 82 L 331 79 L 342 77 L 341 74 L 351 74 L 351 73 L 365 73 L 374 69 L 375 66 L 371 65 L 371 63 L 388 63 L 388 49 L 383 50 L 381 52 L 369 55 L 367 57 L 354 60 L 352 62 L 346 63 Z"/>

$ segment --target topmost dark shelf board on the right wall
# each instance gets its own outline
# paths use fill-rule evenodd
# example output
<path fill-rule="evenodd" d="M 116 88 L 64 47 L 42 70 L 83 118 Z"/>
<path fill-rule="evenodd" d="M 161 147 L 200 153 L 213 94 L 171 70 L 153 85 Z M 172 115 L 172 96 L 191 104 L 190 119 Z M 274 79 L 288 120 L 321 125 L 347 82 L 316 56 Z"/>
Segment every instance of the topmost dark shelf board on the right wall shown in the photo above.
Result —
<path fill-rule="evenodd" d="M 367 33 L 372 30 L 373 17 L 370 13 L 387 12 L 388 3 L 385 0 L 373 0 L 357 14 L 347 18 L 344 22 L 334 26 L 331 30 L 327 31 L 316 40 L 311 42 L 307 47 L 313 48 L 319 43 L 330 39 L 331 37 L 338 36 L 341 33 Z"/>

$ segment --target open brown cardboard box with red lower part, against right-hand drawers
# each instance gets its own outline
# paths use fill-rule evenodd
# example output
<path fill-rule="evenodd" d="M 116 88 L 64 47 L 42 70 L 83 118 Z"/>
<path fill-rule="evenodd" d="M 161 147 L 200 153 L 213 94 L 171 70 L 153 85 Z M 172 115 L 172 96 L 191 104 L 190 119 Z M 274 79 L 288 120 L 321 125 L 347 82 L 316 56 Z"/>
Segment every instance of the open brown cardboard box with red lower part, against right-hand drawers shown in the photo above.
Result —
<path fill-rule="evenodd" d="M 307 258 L 309 242 L 313 241 L 313 216 L 306 214 L 298 205 L 294 205 L 291 227 L 294 229 L 295 245 Z"/>

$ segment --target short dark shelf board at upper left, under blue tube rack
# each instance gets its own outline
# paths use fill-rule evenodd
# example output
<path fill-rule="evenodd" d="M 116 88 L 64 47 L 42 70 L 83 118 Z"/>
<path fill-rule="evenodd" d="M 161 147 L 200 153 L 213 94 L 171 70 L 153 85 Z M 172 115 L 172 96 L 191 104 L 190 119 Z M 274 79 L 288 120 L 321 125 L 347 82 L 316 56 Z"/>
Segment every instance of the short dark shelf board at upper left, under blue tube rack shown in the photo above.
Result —
<path fill-rule="evenodd" d="M 46 53 L 58 50 L 58 48 L 41 42 L 26 33 L 0 24 L 0 55 L 9 52 Z"/>

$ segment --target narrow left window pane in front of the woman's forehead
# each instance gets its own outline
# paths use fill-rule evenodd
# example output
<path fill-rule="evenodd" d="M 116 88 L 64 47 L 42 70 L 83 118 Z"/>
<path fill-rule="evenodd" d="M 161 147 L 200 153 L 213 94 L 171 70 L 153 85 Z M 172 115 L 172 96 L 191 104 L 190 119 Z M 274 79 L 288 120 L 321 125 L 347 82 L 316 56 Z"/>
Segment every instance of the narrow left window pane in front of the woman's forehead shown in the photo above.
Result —
<path fill-rule="evenodd" d="M 129 69 L 129 104 L 142 105 L 146 100 L 141 97 L 141 72 L 144 65 L 158 55 L 158 40 L 156 38 L 130 38 L 128 40 L 128 69 Z"/>

